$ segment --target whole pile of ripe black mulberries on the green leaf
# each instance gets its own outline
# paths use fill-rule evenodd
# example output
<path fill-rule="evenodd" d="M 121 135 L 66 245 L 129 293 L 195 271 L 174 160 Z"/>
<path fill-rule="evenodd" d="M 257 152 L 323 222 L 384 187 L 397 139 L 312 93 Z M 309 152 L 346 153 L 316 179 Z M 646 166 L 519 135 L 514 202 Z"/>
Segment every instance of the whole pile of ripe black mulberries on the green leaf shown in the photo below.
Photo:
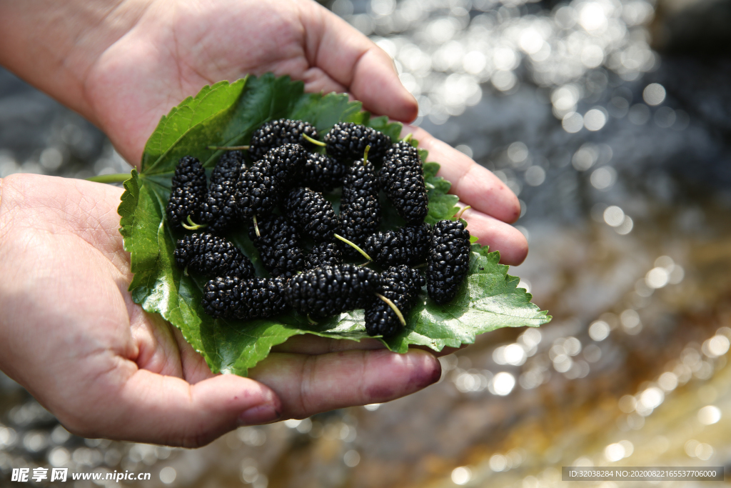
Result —
<path fill-rule="evenodd" d="M 436 303 L 455 298 L 469 271 L 469 232 L 459 221 L 424 222 L 422 162 L 408 140 L 392 144 L 349 122 L 318 138 L 308 122 L 269 121 L 248 153 L 221 155 L 208 187 L 200 161 L 181 158 L 167 204 L 167 222 L 181 234 L 175 264 L 209 280 L 202 308 L 215 318 L 295 309 L 319 320 L 365 309 L 368 334 L 393 336 L 425 300 L 424 287 Z M 338 209 L 330 192 L 339 187 Z M 380 229 L 381 195 L 404 227 Z M 249 257 L 236 245 L 246 234 L 257 249 Z M 363 266 L 361 254 L 382 271 Z"/>

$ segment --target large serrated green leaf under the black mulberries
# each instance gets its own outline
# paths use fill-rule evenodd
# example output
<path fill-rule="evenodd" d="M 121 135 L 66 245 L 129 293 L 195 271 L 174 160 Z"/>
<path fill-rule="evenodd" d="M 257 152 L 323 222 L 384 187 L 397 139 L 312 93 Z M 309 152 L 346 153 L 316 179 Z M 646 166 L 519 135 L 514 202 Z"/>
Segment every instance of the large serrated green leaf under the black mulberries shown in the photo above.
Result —
<path fill-rule="evenodd" d="M 368 124 L 396 140 L 402 126 L 385 117 L 371 118 L 360 102 L 350 102 L 344 94 L 306 94 L 301 82 L 272 74 L 249 76 L 235 83 L 206 86 L 196 97 L 183 100 L 160 121 L 145 146 L 140 173 L 124 183 L 118 213 L 124 249 L 131 253 L 135 274 L 129 289 L 134 301 L 151 313 L 159 313 L 178 327 L 186 340 L 199 351 L 213 372 L 246 375 L 264 359 L 270 349 L 298 334 L 315 334 L 337 339 L 368 337 L 363 326 L 363 310 L 328 318 L 315 325 L 296 312 L 269 320 L 243 323 L 213 319 L 201 307 L 206 280 L 186 276 L 174 264 L 175 242 L 182 229 L 171 229 L 165 219 L 170 195 L 170 179 L 180 157 L 192 154 L 204 165 L 215 165 L 221 151 L 207 146 L 243 145 L 265 121 L 287 117 L 314 124 L 325 134 L 338 121 Z M 416 144 L 416 141 L 413 142 Z M 420 149 L 422 160 L 428 154 Z M 425 162 L 429 214 L 427 222 L 453 219 L 458 198 L 449 195 L 450 182 L 436 176 L 439 165 Z M 327 195 L 336 209 L 339 198 Z M 383 227 L 404 225 L 393 206 L 383 199 Z M 256 249 L 243 231 L 230 239 L 251 258 L 257 272 L 264 273 Z M 474 342 L 477 334 L 501 327 L 539 326 L 550 317 L 530 303 L 531 296 L 516 288 L 518 279 L 498 263 L 497 252 L 480 244 L 472 245 L 471 267 L 457 298 L 437 305 L 427 298 L 406 317 L 407 326 L 383 342 L 401 353 L 409 345 L 426 345 L 434 350 Z"/>

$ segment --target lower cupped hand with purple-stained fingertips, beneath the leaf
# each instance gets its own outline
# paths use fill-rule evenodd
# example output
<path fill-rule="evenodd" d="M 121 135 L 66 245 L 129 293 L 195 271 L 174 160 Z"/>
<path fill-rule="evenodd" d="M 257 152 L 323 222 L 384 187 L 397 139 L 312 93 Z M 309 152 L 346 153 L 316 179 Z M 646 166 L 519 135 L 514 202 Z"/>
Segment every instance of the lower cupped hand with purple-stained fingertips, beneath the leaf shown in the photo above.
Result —
<path fill-rule="evenodd" d="M 213 375 L 180 331 L 132 301 L 121 189 L 0 180 L 0 369 L 77 435 L 195 447 L 240 425 L 387 402 L 439 379 L 423 350 L 288 341 L 251 378 Z"/>

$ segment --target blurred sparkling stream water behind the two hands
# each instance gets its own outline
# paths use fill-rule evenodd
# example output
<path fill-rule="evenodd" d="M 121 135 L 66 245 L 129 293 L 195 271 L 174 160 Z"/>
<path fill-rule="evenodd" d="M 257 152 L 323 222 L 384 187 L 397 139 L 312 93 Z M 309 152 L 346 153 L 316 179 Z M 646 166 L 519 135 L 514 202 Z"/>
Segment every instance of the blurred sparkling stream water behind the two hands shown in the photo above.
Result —
<path fill-rule="evenodd" d="M 731 4 L 327 7 L 393 56 L 417 124 L 518 194 L 531 251 L 510 272 L 553 322 L 484 334 L 411 397 L 194 451 L 69 435 L 0 376 L 0 484 L 37 466 L 255 488 L 538 488 L 565 484 L 567 465 L 730 468 Z M 0 176 L 126 170 L 91 124 L 0 71 Z"/>

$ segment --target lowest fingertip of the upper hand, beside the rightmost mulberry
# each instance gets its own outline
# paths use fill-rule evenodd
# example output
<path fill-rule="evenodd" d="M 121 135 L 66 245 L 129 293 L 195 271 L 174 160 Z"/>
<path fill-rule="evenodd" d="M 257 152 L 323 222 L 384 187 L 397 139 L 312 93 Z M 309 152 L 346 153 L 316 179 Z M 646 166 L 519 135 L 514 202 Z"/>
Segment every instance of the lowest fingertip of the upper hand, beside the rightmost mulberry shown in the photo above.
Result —
<path fill-rule="evenodd" d="M 473 209 L 464 211 L 462 218 L 467 221 L 470 235 L 479 238 L 478 244 L 500 252 L 501 263 L 518 266 L 526 259 L 528 241 L 520 230 Z"/>

